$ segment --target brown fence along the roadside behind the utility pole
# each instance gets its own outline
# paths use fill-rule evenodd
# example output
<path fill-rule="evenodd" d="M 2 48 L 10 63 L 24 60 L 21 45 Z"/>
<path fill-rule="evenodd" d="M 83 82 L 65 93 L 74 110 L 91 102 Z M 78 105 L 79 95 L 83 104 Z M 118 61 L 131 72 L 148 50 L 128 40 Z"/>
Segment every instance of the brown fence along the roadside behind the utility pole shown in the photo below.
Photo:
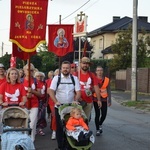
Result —
<path fill-rule="evenodd" d="M 116 71 L 116 90 L 131 91 L 131 73 L 131 68 Z M 150 68 L 137 69 L 137 92 L 150 93 Z"/>

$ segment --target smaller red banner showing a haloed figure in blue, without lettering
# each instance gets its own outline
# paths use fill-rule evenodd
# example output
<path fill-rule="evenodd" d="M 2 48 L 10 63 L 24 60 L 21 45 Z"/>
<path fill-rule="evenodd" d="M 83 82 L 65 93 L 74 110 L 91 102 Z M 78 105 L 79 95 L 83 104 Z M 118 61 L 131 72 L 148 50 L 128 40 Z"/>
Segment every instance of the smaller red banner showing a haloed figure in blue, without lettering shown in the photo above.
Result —
<path fill-rule="evenodd" d="M 73 51 L 73 25 L 49 25 L 48 50 L 57 56 Z"/>

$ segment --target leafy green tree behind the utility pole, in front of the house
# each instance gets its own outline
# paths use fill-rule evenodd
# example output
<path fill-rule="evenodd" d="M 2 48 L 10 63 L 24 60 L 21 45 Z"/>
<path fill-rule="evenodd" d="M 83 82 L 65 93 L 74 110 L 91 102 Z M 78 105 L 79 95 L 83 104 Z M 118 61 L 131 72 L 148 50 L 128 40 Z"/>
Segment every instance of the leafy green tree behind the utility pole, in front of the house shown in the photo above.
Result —
<path fill-rule="evenodd" d="M 137 67 L 145 67 L 146 58 L 148 57 L 149 38 L 145 38 L 144 30 L 138 35 L 137 46 Z M 148 37 L 148 36 L 146 36 Z M 111 71 L 131 68 L 132 63 L 132 28 L 120 31 L 116 42 L 111 45 L 114 58 L 109 63 Z"/>

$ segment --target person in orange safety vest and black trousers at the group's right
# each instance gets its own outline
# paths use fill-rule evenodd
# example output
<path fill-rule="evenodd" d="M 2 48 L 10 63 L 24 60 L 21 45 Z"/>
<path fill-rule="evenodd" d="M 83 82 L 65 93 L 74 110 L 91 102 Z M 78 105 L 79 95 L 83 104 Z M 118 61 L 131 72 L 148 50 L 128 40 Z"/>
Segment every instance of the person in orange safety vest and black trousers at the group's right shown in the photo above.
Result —
<path fill-rule="evenodd" d="M 96 136 L 100 136 L 103 132 L 102 124 L 106 119 L 107 106 L 111 106 L 111 90 L 110 90 L 110 79 L 104 76 L 104 71 L 101 66 L 96 67 L 96 77 L 98 79 L 99 90 L 101 95 L 102 107 L 99 108 L 97 105 L 97 96 L 93 94 L 93 104 L 95 110 L 95 126 Z"/>

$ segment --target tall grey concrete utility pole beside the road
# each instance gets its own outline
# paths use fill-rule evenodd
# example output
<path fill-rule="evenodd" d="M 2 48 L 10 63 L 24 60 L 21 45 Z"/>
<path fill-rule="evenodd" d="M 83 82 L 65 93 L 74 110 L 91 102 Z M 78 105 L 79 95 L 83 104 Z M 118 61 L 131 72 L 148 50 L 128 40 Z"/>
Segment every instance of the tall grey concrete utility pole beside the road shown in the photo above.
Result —
<path fill-rule="evenodd" d="M 138 0 L 133 0 L 132 21 L 132 74 L 131 74 L 131 100 L 137 100 L 137 6 Z"/>

